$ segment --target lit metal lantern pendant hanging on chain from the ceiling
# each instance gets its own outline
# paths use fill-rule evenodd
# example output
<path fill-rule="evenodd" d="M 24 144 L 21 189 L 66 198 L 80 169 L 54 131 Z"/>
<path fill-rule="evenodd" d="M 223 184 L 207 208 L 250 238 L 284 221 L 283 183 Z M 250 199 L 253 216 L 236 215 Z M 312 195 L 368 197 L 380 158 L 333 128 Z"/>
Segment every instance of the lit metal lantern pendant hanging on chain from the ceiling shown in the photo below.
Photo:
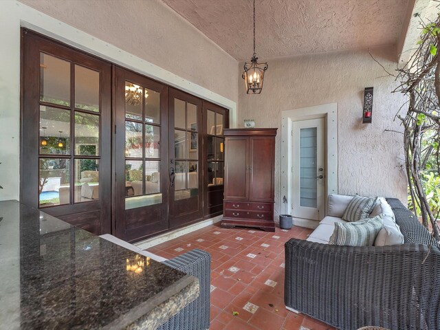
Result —
<path fill-rule="evenodd" d="M 248 94 L 260 94 L 263 89 L 264 72 L 267 70 L 266 63 L 258 63 L 255 52 L 255 0 L 254 0 L 254 54 L 250 63 L 245 63 L 241 77 L 245 80 L 246 92 Z"/>

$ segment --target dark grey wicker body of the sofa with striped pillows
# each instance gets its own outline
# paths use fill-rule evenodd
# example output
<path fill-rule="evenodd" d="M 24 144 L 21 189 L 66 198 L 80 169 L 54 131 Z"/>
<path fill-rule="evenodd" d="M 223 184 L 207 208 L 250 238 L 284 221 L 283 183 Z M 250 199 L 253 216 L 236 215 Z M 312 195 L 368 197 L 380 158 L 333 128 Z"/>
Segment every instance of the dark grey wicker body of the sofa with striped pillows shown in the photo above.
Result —
<path fill-rule="evenodd" d="M 440 250 L 398 199 L 386 199 L 404 244 L 285 243 L 285 305 L 338 329 L 440 329 Z"/>

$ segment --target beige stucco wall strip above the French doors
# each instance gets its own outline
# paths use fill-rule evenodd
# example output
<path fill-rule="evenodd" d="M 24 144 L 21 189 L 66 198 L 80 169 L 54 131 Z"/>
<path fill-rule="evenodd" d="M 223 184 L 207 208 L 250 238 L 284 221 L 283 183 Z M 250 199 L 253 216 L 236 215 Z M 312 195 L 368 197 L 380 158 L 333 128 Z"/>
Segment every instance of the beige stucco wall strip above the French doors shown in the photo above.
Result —
<path fill-rule="evenodd" d="M 225 98 L 237 99 L 236 60 L 162 1 L 20 1 Z"/>

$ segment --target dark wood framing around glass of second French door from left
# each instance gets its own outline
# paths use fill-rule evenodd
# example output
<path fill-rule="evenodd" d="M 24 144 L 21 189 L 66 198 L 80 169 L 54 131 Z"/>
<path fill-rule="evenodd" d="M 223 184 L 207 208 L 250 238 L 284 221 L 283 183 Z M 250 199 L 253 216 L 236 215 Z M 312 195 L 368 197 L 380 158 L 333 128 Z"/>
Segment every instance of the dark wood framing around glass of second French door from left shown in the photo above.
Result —
<path fill-rule="evenodd" d="M 113 228 L 115 236 L 126 241 L 138 241 L 146 239 L 149 236 L 158 234 L 168 230 L 168 87 L 155 80 L 142 76 L 132 72 L 131 70 L 124 69 L 122 67 L 114 66 L 113 68 Z M 162 193 L 162 203 L 155 204 L 151 207 L 160 208 L 162 212 L 162 219 L 154 223 L 145 223 L 137 228 L 126 228 L 126 212 L 125 210 L 125 155 L 120 155 L 119 151 L 125 150 L 125 100 L 120 98 L 118 90 L 125 87 L 125 81 L 133 81 L 133 83 L 139 83 L 148 89 L 153 89 L 160 93 L 160 192 Z M 121 109 L 123 109 L 122 112 Z M 128 120 L 130 120 L 128 118 Z M 146 123 L 148 124 L 148 123 Z M 121 159 L 124 161 L 122 162 Z M 146 158 L 145 158 L 146 159 Z M 135 159 L 133 159 L 135 160 Z M 144 176 L 143 176 L 144 179 Z M 159 206 L 160 205 L 160 206 Z M 145 212 L 146 208 L 150 206 L 142 207 L 143 210 L 129 211 L 129 212 Z M 158 211 L 158 210 L 157 210 Z M 163 225 L 166 227 L 162 228 Z M 157 229 L 159 228 L 159 229 Z M 142 234 L 139 232 L 144 231 Z"/>

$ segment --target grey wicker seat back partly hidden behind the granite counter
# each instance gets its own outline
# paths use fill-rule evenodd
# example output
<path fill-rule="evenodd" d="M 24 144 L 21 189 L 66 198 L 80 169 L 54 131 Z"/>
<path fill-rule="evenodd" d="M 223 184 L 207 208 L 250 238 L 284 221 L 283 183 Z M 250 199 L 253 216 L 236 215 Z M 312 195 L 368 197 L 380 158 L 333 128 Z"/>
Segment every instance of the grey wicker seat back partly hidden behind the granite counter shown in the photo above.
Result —
<path fill-rule="evenodd" d="M 199 278 L 199 297 L 160 326 L 160 330 L 202 330 L 210 325 L 211 255 L 195 249 L 164 264 Z"/>

